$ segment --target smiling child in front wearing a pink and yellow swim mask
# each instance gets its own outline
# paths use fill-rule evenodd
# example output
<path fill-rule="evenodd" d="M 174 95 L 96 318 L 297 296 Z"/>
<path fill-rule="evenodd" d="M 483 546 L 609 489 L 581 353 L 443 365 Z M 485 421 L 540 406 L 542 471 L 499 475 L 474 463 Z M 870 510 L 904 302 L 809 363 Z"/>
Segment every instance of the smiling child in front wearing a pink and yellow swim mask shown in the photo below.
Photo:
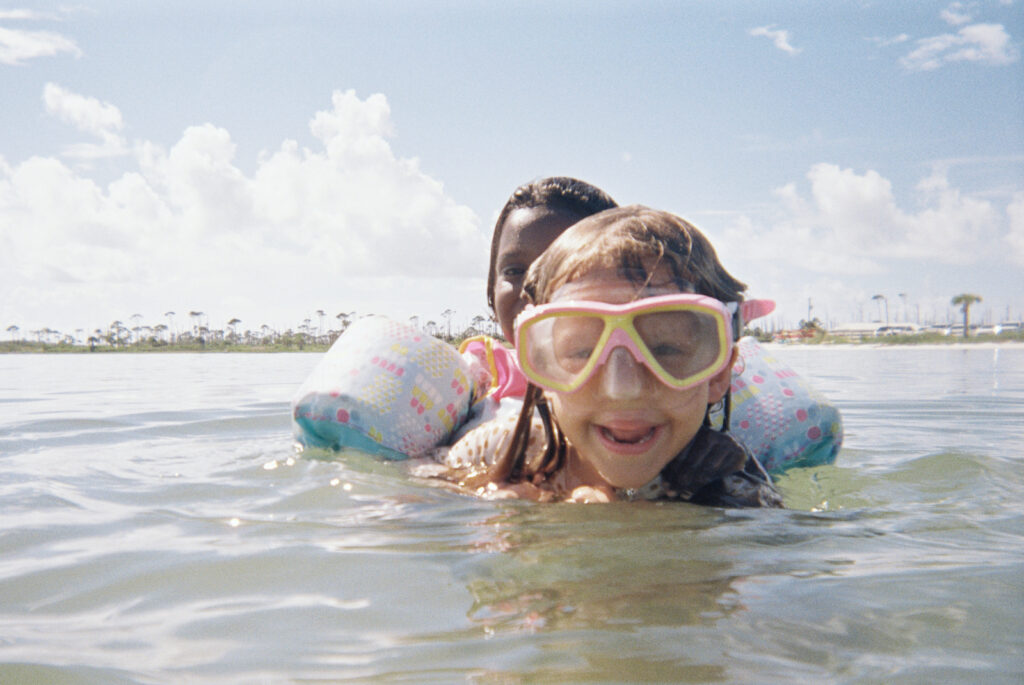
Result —
<path fill-rule="evenodd" d="M 490 497 L 781 506 L 757 461 L 707 421 L 729 388 L 744 289 L 666 212 L 575 223 L 523 283 L 522 411 L 467 433 L 443 477 Z"/>

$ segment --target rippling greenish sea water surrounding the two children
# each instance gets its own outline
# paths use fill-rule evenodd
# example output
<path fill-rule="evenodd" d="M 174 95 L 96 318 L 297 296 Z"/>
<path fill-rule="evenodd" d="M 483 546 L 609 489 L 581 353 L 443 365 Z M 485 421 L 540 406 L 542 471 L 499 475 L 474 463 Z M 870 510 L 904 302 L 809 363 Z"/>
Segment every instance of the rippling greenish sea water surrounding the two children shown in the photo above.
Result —
<path fill-rule="evenodd" d="M 295 457 L 316 354 L 0 355 L 0 683 L 1020 683 L 1024 348 L 780 348 L 788 509 Z"/>

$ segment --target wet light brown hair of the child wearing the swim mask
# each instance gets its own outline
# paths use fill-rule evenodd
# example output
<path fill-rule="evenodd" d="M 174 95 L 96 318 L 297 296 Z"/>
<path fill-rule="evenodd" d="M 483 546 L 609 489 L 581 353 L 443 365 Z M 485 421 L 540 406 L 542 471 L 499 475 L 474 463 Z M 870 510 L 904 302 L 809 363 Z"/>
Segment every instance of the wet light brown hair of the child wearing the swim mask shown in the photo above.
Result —
<path fill-rule="evenodd" d="M 523 292 L 534 304 L 546 304 L 562 286 L 599 270 L 614 270 L 637 285 L 652 284 L 655 272 L 670 274 L 680 292 L 741 302 L 746 286 L 718 259 L 703 233 L 680 217 L 632 205 L 608 209 L 570 226 L 530 265 Z M 546 447 L 526 459 L 530 423 L 537 410 L 544 424 Z M 488 482 L 530 481 L 540 484 L 564 466 L 566 442 L 553 420 L 542 390 L 529 384 L 508 449 L 486 470 L 453 472 L 470 488 Z"/>

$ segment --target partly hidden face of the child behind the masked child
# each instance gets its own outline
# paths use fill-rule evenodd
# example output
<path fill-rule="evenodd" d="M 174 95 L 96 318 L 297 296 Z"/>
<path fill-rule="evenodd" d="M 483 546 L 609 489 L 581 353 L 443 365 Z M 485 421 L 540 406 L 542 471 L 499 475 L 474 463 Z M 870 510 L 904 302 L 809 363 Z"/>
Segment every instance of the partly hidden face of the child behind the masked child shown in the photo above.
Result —
<path fill-rule="evenodd" d="M 522 299 L 526 269 L 579 219 L 545 207 L 516 209 L 506 217 L 495 258 L 495 314 L 506 340 L 512 340 L 516 314 L 526 304 Z"/>

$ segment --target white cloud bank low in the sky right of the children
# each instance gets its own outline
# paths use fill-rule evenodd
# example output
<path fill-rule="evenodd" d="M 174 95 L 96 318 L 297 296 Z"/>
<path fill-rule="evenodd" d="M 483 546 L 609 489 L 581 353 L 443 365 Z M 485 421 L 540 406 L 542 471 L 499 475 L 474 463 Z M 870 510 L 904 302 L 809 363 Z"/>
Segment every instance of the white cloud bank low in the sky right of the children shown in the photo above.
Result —
<path fill-rule="evenodd" d="M 806 182 L 787 183 L 775 197 L 774 208 L 738 215 L 714 242 L 752 296 L 778 298 L 778 315 L 790 325 L 807 315 L 809 300 L 822 319 L 861 320 L 877 284 L 905 274 L 922 292 L 941 291 L 930 273 L 1024 263 L 1024 191 L 1004 213 L 952 186 L 942 169 L 897 194 L 876 170 L 819 163 Z"/>

